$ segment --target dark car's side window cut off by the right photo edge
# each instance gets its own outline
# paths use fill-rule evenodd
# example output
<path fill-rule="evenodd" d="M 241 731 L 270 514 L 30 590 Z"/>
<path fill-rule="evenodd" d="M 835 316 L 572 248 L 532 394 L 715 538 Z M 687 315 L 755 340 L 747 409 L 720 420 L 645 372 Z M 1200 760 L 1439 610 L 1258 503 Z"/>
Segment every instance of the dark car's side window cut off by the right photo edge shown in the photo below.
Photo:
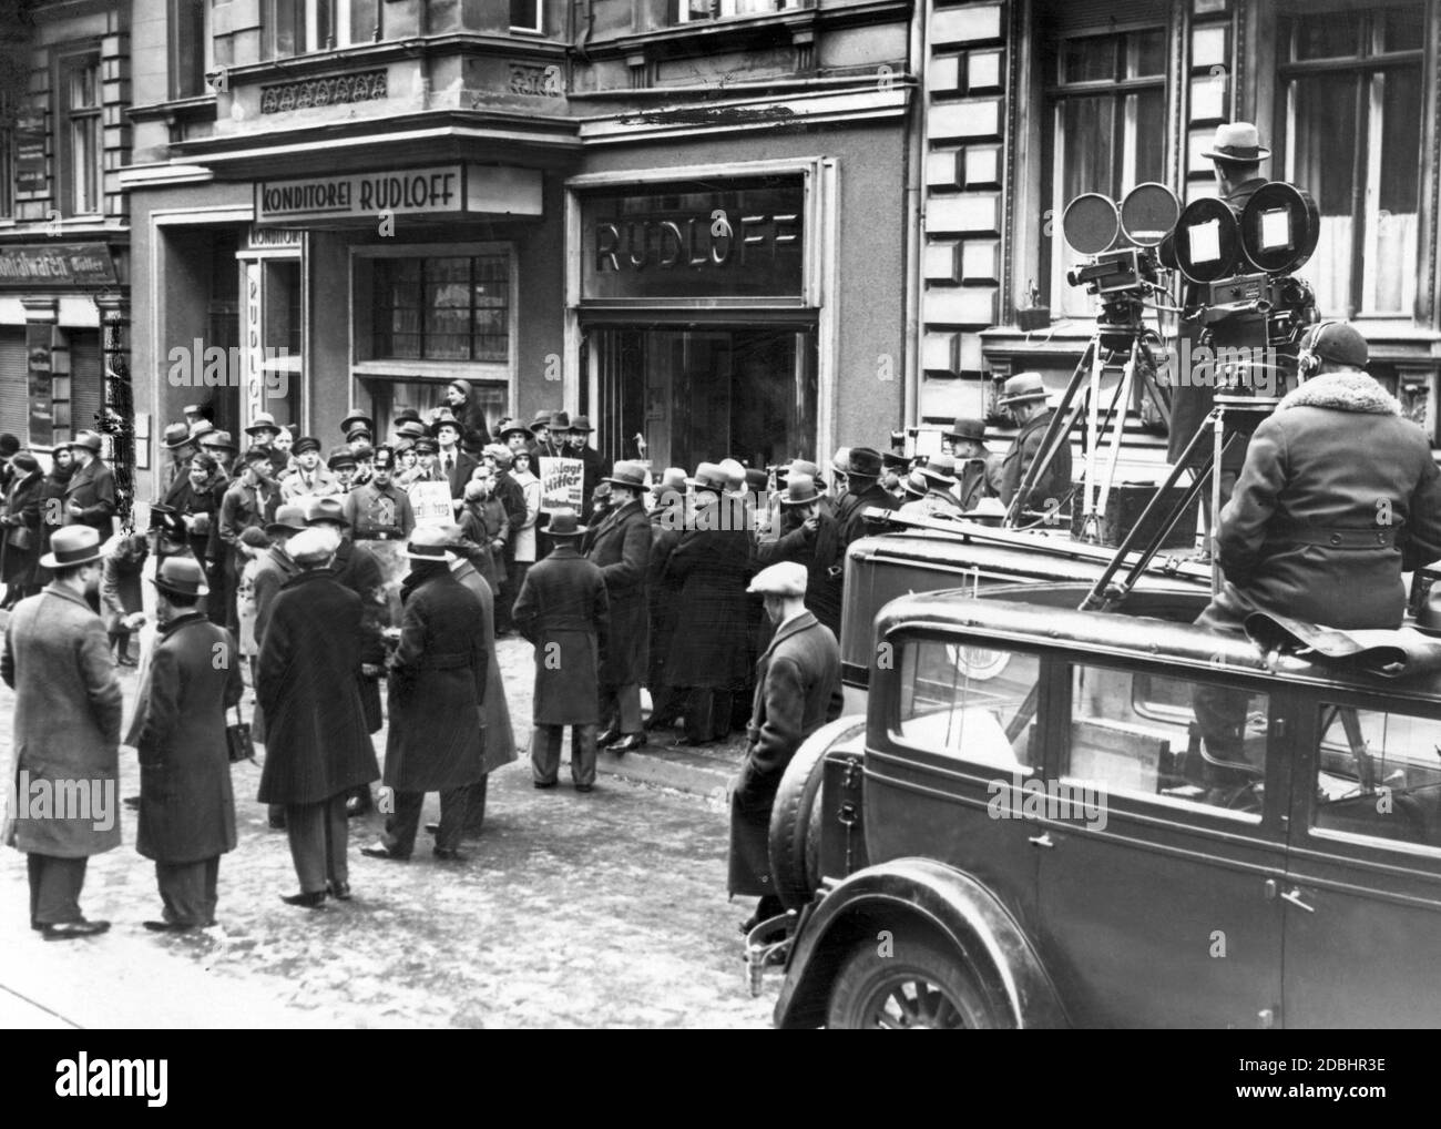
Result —
<path fill-rule="evenodd" d="M 1441 720 L 1321 705 L 1311 828 L 1441 849 Z"/>

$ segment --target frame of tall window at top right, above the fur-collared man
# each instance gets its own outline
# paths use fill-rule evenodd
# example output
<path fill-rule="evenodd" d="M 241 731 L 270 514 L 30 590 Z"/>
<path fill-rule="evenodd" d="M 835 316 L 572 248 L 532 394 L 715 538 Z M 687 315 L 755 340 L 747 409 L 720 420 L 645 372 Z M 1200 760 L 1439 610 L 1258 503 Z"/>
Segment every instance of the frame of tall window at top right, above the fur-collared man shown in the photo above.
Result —
<path fill-rule="evenodd" d="M 1379 185 L 1382 179 L 1380 137 L 1385 128 L 1383 117 L 1383 88 L 1376 79 L 1392 71 L 1412 71 L 1414 76 L 1425 84 L 1425 48 L 1408 48 L 1402 50 L 1385 50 L 1382 35 L 1385 32 L 1385 14 L 1396 9 L 1417 7 L 1411 0 L 1401 3 L 1376 3 L 1368 9 L 1357 10 L 1360 20 L 1357 43 L 1350 55 L 1334 55 L 1320 59 L 1297 59 L 1295 40 L 1306 19 L 1326 13 L 1293 12 L 1281 16 L 1277 30 L 1277 136 L 1282 138 L 1284 151 L 1281 157 L 1284 179 L 1297 183 L 1295 173 L 1295 123 L 1297 104 L 1293 97 L 1293 84 L 1308 78 L 1343 76 L 1353 82 L 1356 88 L 1356 131 L 1352 141 L 1352 200 L 1359 200 L 1360 221 L 1357 221 L 1357 205 L 1350 213 L 1350 277 L 1347 280 L 1347 294 L 1342 309 L 1326 310 L 1323 317 L 1352 319 L 1396 319 L 1415 316 L 1417 303 L 1421 301 L 1424 287 L 1417 285 L 1411 296 L 1409 306 L 1399 310 L 1376 309 L 1376 293 L 1380 274 L 1376 270 L 1379 254 L 1372 254 L 1372 245 L 1378 236 L 1380 212 Z M 1421 4 L 1425 17 L 1425 4 Z M 1424 133 L 1425 114 L 1421 115 L 1421 134 L 1417 136 L 1417 261 L 1409 264 L 1415 271 L 1412 277 L 1419 280 L 1425 265 L 1425 212 L 1428 203 L 1421 193 L 1422 164 L 1424 164 Z M 1278 146 L 1278 149 L 1281 149 Z M 1275 160 L 1275 157 L 1272 157 Z M 1301 185 L 1306 187 L 1306 185 Z M 1304 268 L 1303 268 L 1304 271 Z M 1402 275 L 1411 274 L 1406 264 L 1401 265 Z"/>

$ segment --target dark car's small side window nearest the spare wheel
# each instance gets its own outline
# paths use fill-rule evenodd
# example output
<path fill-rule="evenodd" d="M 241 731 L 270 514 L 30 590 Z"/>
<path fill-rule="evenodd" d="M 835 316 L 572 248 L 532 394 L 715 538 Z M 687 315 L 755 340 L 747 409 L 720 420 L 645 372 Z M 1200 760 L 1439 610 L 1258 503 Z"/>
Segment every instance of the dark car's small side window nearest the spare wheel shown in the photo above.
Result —
<path fill-rule="evenodd" d="M 898 668 L 895 737 L 944 757 L 1022 776 L 1032 770 L 1038 656 L 955 639 L 909 639 Z"/>

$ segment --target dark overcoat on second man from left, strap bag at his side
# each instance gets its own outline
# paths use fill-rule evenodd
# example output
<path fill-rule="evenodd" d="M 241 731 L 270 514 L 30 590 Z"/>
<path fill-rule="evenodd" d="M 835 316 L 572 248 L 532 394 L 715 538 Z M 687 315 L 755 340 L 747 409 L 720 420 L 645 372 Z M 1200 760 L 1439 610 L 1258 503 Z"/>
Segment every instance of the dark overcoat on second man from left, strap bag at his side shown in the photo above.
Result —
<path fill-rule="evenodd" d="M 235 639 L 199 611 L 169 624 L 150 653 L 135 849 L 156 862 L 200 862 L 235 849 L 225 711 L 241 701 Z"/>

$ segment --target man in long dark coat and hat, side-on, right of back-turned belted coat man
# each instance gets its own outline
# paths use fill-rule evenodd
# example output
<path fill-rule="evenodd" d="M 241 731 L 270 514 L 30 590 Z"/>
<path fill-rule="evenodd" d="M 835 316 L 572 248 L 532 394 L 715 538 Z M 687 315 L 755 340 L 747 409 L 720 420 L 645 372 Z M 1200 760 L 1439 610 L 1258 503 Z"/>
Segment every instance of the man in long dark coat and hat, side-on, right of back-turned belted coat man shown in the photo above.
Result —
<path fill-rule="evenodd" d="M 650 518 L 641 502 L 646 467 L 620 461 L 605 479 L 614 503 L 586 533 L 586 559 L 605 577 L 611 630 L 601 653 L 601 720 L 611 725 L 597 738 L 618 754 L 646 744 L 640 718 L 640 683 L 650 663 L 650 611 L 646 574 L 650 565 Z"/>

